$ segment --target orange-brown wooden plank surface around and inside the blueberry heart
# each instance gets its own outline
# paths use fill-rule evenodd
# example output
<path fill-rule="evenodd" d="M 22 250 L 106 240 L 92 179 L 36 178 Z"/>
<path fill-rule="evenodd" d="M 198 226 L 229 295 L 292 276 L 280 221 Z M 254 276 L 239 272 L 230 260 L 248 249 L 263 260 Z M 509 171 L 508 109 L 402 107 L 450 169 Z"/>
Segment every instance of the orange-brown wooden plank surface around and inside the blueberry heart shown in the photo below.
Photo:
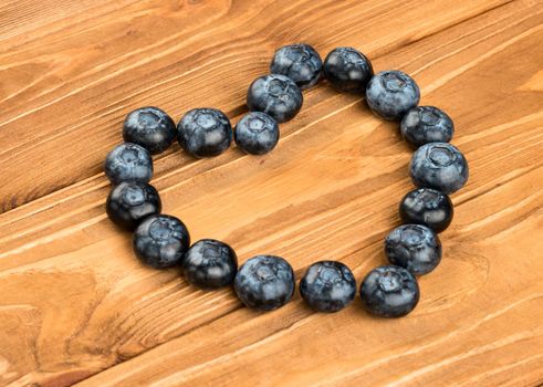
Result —
<path fill-rule="evenodd" d="M 127 112 L 246 112 L 275 48 L 365 52 L 455 119 L 471 179 L 445 259 L 406 318 L 296 295 L 269 314 L 139 264 L 107 220 L 106 153 Z M 543 383 L 543 2 L 0 0 L 0 385 L 535 386 Z M 357 280 L 411 188 L 397 124 L 326 83 L 264 157 L 156 157 L 165 212 L 240 261 Z"/>

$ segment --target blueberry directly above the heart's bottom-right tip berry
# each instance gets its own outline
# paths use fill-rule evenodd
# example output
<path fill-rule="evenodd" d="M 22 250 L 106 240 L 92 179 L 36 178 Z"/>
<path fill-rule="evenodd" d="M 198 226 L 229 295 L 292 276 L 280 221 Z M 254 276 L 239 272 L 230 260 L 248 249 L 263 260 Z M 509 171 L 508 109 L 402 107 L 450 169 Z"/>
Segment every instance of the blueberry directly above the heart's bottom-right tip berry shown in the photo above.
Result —
<path fill-rule="evenodd" d="M 441 242 L 426 226 L 404 224 L 386 237 L 385 253 L 391 264 L 420 275 L 431 272 L 441 261 Z"/>

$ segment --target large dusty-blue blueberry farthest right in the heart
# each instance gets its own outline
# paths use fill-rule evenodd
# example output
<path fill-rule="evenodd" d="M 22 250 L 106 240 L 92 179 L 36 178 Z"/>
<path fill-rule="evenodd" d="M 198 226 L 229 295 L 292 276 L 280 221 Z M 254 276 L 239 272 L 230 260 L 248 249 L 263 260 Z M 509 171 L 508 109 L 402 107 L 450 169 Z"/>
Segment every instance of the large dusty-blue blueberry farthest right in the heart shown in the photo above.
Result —
<path fill-rule="evenodd" d="M 469 177 L 466 157 L 448 143 L 428 143 L 415 150 L 409 171 L 417 187 L 434 188 L 445 194 L 458 191 Z"/>

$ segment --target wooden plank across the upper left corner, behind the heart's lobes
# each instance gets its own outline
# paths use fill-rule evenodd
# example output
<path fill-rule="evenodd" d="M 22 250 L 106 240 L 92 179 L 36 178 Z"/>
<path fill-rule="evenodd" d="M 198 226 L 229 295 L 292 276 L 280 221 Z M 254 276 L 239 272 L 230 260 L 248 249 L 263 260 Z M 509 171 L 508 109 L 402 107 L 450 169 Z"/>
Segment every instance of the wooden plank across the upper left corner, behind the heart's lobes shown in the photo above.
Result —
<path fill-rule="evenodd" d="M 0 164 L 12 182 L 0 187 L 0 211 L 101 174 L 132 108 L 160 105 L 176 118 L 195 105 L 238 112 L 284 42 L 323 52 L 341 42 L 377 56 L 503 2 L 124 0 L 94 18 L 94 8 L 75 7 L 73 19 L 31 30 L 41 39 L 0 41 Z M 24 4 L 22 14 L 40 7 Z M 0 32 L 10 14 L 0 13 Z"/>

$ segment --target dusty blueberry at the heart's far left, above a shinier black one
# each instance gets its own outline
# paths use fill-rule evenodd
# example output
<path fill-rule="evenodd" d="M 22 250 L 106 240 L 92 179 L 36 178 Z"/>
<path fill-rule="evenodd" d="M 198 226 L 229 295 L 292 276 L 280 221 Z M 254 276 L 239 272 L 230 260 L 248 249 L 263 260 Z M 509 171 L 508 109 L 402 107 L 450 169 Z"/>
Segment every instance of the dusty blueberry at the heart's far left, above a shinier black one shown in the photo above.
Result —
<path fill-rule="evenodd" d="M 153 159 L 144 147 L 125 143 L 107 154 L 104 170 L 114 185 L 127 180 L 148 182 L 153 177 Z"/>

